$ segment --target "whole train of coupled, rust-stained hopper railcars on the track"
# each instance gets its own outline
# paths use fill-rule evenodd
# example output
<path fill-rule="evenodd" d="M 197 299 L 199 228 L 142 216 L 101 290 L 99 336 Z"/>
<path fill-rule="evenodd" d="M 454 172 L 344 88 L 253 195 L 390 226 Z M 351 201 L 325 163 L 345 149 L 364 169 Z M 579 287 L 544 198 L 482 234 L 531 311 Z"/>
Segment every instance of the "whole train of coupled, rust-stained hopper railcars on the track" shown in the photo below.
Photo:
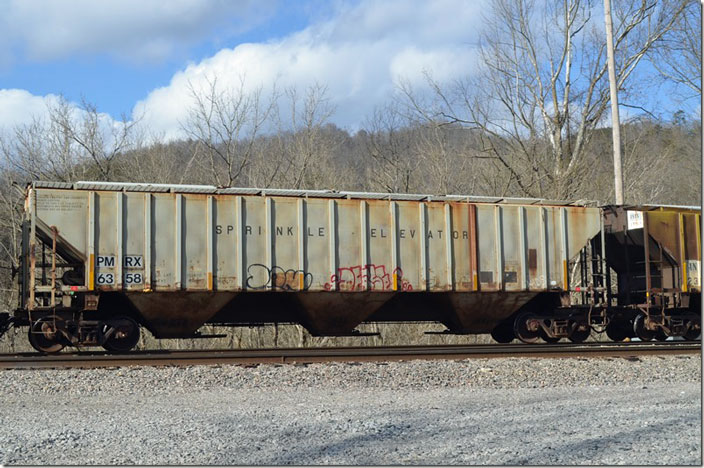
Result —
<path fill-rule="evenodd" d="M 34 182 L 19 305 L 41 352 L 141 327 L 439 322 L 500 342 L 699 335 L 700 209 L 538 199 Z M 611 284 L 612 273 L 618 278 Z"/>

